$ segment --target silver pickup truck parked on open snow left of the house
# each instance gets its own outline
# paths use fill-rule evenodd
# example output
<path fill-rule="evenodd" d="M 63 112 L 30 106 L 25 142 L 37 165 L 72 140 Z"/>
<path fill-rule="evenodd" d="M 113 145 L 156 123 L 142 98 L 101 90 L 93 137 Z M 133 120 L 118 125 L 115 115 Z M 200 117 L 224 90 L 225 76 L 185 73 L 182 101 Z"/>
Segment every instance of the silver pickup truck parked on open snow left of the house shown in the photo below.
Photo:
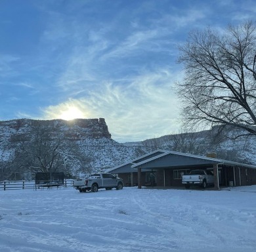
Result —
<path fill-rule="evenodd" d="M 99 188 L 106 188 L 106 190 L 111 190 L 116 188 L 116 190 L 123 189 L 123 179 L 117 178 L 111 173 L 97 173 L 90 175 L 86 179 L 74 180 L 74 188 L 79 190 L 79 192 L 98 192 Z"/>

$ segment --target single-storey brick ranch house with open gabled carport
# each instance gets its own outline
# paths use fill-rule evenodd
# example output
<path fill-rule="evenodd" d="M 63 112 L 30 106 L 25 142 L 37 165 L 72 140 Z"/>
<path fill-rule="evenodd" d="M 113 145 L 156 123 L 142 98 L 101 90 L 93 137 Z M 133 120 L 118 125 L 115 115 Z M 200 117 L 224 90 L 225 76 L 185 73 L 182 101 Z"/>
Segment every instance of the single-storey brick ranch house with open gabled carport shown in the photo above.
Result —
<path fill-rule="evenodd" d="M 124 186 L 182 186 L 181 176 L 193 169 L 214 172 L 215 188 L 256 184 L 256 166 L 216 158 L 216 154 L 196 156 L 156 150 L 108 170 L 123 179 Z M 217 182 L 216 182 L 217 181 Z"/>

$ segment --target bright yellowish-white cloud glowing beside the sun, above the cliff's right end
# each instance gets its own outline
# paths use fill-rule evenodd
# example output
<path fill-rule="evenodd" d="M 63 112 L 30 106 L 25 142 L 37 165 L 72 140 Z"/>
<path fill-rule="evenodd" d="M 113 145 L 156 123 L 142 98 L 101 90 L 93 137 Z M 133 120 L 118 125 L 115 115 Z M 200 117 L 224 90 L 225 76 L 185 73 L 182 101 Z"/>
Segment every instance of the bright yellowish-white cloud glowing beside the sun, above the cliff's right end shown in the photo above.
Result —
<path fill-rule="evenodd" d="M 86 118 L 105 117 L 113 138 L 121 142 L 171 133 L 179 114 L 171 86 L 179 78 L 166 69 L 144 73 L 127 86 L 102 83 L 87 97 L 44 108 L 43 117 L 60 118 L 73 106 Z"/>

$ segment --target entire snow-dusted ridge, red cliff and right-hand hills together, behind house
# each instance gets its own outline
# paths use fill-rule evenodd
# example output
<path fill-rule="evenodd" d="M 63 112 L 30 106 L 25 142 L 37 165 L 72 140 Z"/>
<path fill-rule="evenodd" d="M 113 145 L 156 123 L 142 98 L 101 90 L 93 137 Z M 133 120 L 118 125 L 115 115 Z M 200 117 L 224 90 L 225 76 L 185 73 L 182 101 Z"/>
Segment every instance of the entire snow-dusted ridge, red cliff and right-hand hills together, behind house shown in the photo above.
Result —
<path fill-rule="evenodd" d="M 15 158 L 14 154 L 17 153 L 20 144 L 27 142 L 33 146 L 35 144 L 32 142 L 33 137 L 42 131 L 47 131 L 50 142 L 54 139 L 60 140 L 60 153 L 66 155 L 63 159 L 67 156 L 73 157 L 72 165 L 65 167 L 68 167 L 74 175 L 84 173 L 79 167 L 87 171 L 90 169 L 91 172 L 106 171 L 156 149 L 201 156 L 216 152 L 217 158 L 256 164 L 256 137 L 240 137 L 231 140 L 232 130 L 225 129 L 219 133 L 218 129 L 215 127 L 211 131 L 166 135 L 142 142 L 122 144 L 111 138 L 104 118 L 73 121 L 58 119 L 0 121 L 0 162 L 5 162 L 5 167 L 8 169 L 7 162 Z M 78 165 L 75 164 L 75 160 L 81 157 L 83 161 L 79 160 Z M 16 167 L 17 165 L 14 165 L 14 169 Z M 26 169 L 28 166 L 24 165 L 24 167 Z"/>

